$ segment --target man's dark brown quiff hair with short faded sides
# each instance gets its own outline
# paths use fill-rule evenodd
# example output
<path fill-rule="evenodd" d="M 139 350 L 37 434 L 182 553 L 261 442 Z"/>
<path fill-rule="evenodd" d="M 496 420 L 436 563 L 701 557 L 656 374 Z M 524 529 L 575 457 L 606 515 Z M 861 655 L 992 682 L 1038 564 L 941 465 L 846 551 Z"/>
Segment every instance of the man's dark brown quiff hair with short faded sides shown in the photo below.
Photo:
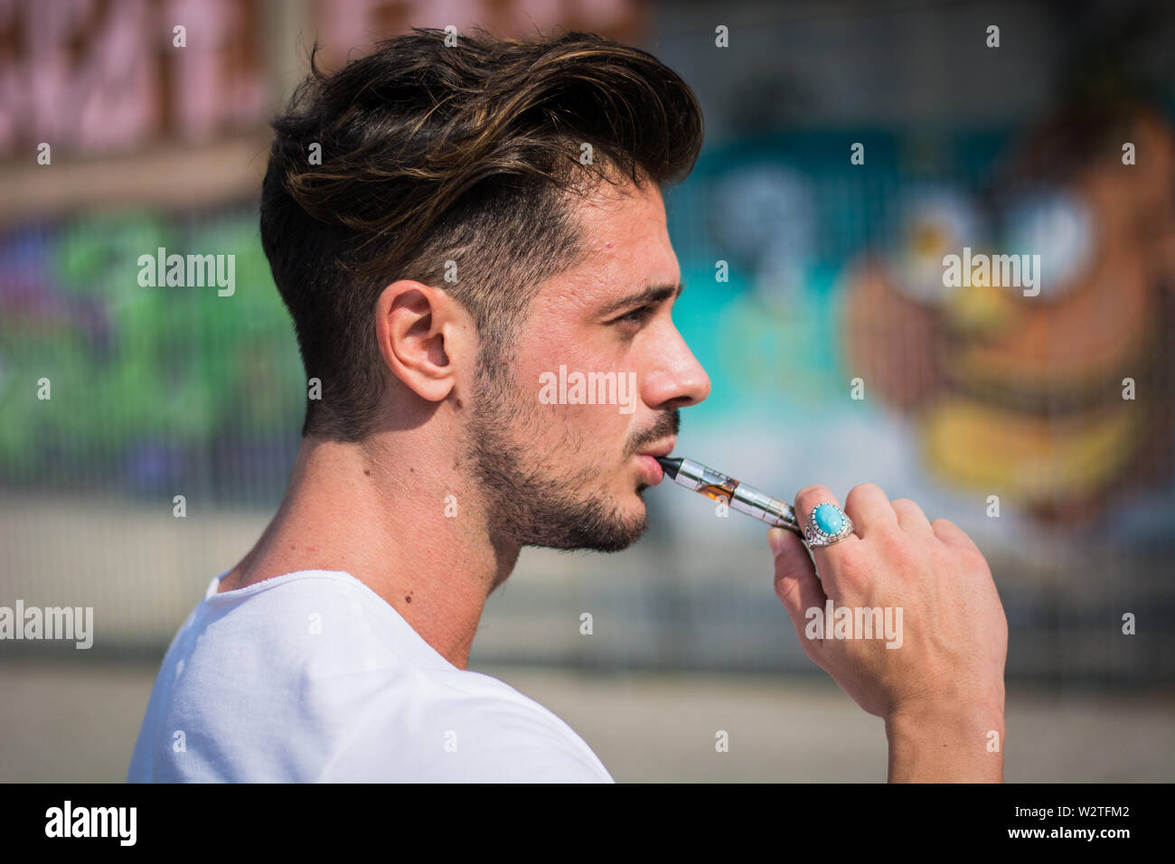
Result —
<path fill-rule="evenodd" d="M 322 382 L 303 435 L 374 430 L 387 286 L 446 290 L 477 324 L 479 374 L 492 374 L 538 286 L 585 253 L 572 195 L 598 181 L 662 188 L 697 161 L 701 109 L 651 54 L 588 33 L 445 35 L 412 28 L 329 75 L 315 46 L 273 122 L 261 242 L 307 377 Z"/>

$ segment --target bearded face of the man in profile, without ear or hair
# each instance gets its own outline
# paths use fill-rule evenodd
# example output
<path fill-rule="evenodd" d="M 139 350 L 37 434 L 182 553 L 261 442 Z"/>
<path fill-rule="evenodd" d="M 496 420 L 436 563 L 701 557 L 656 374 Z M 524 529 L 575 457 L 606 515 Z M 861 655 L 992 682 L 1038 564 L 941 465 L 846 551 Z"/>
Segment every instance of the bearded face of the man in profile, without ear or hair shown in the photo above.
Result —
<path fill-rule="evenodd" d="M 469 456 L 499 537 L 617 551 L 647 528 L 678 409 L 710 380 L 670 317 L 680 270 L 656 185 L 577 205 L 589 253 L 543 284 L 504 364 L 479 370 Z"/>

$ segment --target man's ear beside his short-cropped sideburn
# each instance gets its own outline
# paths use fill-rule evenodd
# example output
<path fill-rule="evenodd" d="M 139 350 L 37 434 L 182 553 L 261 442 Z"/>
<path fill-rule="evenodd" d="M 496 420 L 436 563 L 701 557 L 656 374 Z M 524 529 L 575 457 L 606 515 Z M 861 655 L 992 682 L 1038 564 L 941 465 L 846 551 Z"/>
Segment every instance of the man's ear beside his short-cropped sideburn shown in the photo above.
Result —
<path fill-rule="evenodd" d="M 380 354 L 391 373 L 430 402 L 457 384 L 457 362 L 475 339 L 468 313 L 438 288 L 401 280 L 375 304 Z"/>

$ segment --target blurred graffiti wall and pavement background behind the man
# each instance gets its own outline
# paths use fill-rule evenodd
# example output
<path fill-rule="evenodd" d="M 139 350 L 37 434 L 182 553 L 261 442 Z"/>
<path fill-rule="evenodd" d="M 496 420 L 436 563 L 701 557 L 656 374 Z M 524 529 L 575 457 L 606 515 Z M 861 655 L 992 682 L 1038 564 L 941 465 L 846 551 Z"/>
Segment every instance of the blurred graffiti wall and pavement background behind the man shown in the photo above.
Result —
<path fill-rule="evenodd" d="M 713 388 L 677 453 L 956 522 L 1010 629 L 1007 779 L 1175 779 L 1175 7 L 5 0 L 0 607 L 93 607 L 95 632 L 0 642 L 0 781 L 125 777 L 168 642 L 281 498 L 306 384 L 256 199 L 307 47 L 334 68 L 446 25 L 598 32 L 682 74 L 706 146 L 667 196 L 674 320 Z M 159 247 L 234 254 L 234 295 L 140 287 Z M 1040 255 L 1040 294 L 945 288 L 965 247 Z M 645 500 L 625 552 L 525 550 L 470 668 L 618 781 L 884 781 L 764 531 Z"/>

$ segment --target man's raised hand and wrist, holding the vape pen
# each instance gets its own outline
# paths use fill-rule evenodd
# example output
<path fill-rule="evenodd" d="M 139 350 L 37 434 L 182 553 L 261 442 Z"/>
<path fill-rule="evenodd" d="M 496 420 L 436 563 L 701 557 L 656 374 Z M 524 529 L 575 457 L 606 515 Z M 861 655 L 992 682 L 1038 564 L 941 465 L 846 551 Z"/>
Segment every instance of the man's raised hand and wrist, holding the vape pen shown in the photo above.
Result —
<path fill-rule="evenodd" d="M 800 524 L 822 503 L 838 502 L 822 485 L 801 489 Z M 1008 623 L 982 552 L 953 523 L 929 522 L 913 501 L 891 502 L 873 483 L 854 487 L 844 510 L 854 534 L 812 557 L 794 534 L 768 533 L 776 594 L 805 654 L 885 718 L 891 782 L 1002 781 Z M 854 638 L 835 638 L 841 607 L 852 612 Z M 860 638 L 857 622 L 867 612 L 859 609 L 900 622 L 898 637 L 881 629 Z M 810 638 L 817 623 L 822 638 Z"/>

